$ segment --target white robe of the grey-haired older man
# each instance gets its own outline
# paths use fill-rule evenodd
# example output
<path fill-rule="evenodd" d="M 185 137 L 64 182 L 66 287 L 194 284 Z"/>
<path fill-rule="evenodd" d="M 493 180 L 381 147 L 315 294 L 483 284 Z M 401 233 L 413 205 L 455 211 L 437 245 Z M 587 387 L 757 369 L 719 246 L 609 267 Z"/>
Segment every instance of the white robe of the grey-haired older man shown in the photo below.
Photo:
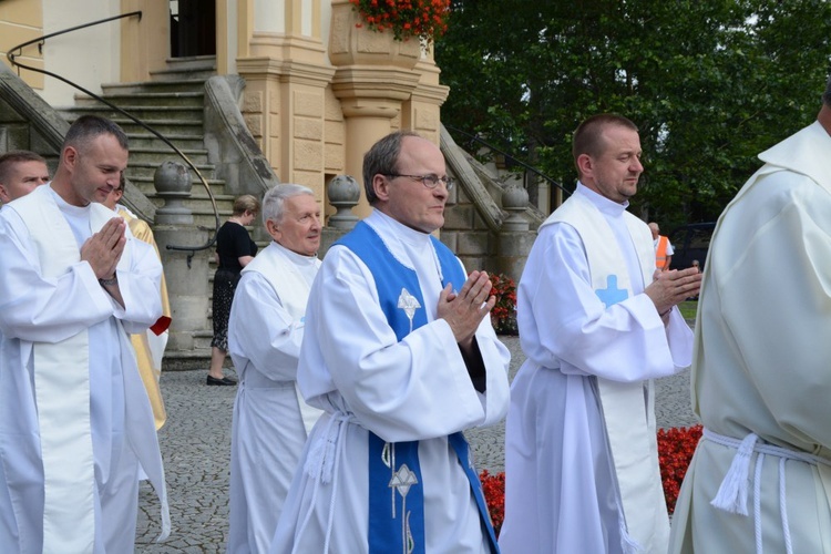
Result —
<path fill-rule="evenodd" d="M 265 553 L 322 413 L 296 388 L 306 302 L 320 260 L 271 243 L 243 269 L 228 320 L 239 375 L 230 443 L 228 553 Z"/>

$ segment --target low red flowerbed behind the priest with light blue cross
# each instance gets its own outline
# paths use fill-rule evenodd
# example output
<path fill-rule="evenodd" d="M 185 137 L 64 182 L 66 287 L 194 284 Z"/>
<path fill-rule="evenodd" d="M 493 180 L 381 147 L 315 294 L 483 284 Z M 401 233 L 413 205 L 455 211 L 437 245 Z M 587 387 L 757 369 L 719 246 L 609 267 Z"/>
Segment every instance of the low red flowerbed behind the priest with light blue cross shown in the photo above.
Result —
<path fill-rule="evenodd" d="M 701 425 L 674 427 L 658 430 L 658 461 L 660 479 L 664 482 L 664 496 L 667 510 L 671 514 L 678 500 L 684 475 L 687 473 L 693 453 L 701 438 Z M 493 529 L 499 535 L 505 519 L 505 472 L 491 475 L 488 470 L 480 473 L 488 510 L 491 513 Z"/>

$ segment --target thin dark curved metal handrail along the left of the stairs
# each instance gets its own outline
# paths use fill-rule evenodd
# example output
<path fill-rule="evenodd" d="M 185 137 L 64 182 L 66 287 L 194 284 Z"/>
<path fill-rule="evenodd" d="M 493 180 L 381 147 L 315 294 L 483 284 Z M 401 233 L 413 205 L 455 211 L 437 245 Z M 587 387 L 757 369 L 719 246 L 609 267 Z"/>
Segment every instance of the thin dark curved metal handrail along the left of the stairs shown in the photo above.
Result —
<path fill-rule="evenodd" d="M 65 33 L 72 32 L 72 31 L 76 31 L 79 29 L 85 29 L 88 27 L 93 27 L 93 25 L 98 25 L 98 24 L 101 24 L 101 23 L 107 23 L 110 21 L 115 21 L 115 20 L 119 20 L 119 19 L 131 18 L 133 16 L 137 16 L 138 20 L 141 21 L 141 19 L 142 19 L 142 12 L 141 11 L 132 11 L 130 13 L 122 13 L 120 16 L 113 16 L 112 18 L 100 19 L 98 21 L 92 21 L 90 23 L 84 23 L 82 25 L 76 25 L 76 27 L 73 27 L 73 28 L 70 28 L 70 29 L 64 29 L 62 31 L 57 31 L 57 32 L 53 32 L 53 33 L 50 33 L 50 34 L 44 34 L 43 37 L 39 37 L 37 39 L 32 39 L 30 41 L 23 42 L 22 44 L 19 44 L 17 47 L 10 48 L 9 51 L 7 52 L 6 57 L 8 58 L 9 62 L 11 63 L 12 66 L 28 69 L 29 71 L 34 71 L 37 73 L 43 73 L 44 75 L 49 75 L 51 78 L 58 79 L 59 81 L 62 81 L 62 82 L 69 84 L 73 89 L 76 89 L 76 90 L 83 92 L 84 94 L 86 94 L 89 96 L 92 96 L 93 99 L 98 100 L 99 102 L 101 102 L 103 104 L 106 104 L 112 110 L 115 110 L 116 112 L 121 113 L 122 115 L 129 117 L 134 123 L 138 124 L 140 126 L 142 126 L 146 131 L 150 131 L 158 140 L 161 140 L 163 143 L 165 143 L 167 146 L 170 146 L 182 160 L 185 161 L 185 163 L 191 167 L 191 170 L 194 171 L 194 173 L 196 174 L 196 176 L 199 178 L 199 182 L 205 187 L 205 191 L 207 192 L 208 198 L 211 199 L 211 205 L 212 205 L 212 207 L 214 209 L 214 217 L 216 218 L 216 225 L 215 225 L 215 228 L 214 228 L 214 236 L 204 246 L 197 246 L 197 247 L 195 247 L 195 246 L 176 246 L 176 245 L 167 245 L 166 246 L 166 248 L 168 250 L 189 252 L 191 254 L 187 256 L 187 267 L 191 267 L 191 260 L 195 256 L 196 252 L 198 252 L 198 250 L 205 250 L 207 248 L 211 248 L 214 245 L 214 243 L 216 243 L 216 234 L 219 232 L 219 209 L 216 207 L 216 199 L 214 199 L 214 194 L 211 192 L 211 187 L 208 186 L 207 181 L 205 181 L 205 177 L 203 177 L 202 173 L 199 172 L 199 170 L 196 168 L 196 166 L 194 165 L 194 163 L 191 162 L 191 158 L 188 158 L 185 155 L 185 153 L 182 152 L 175 144 L 173 144 L 166 136 L 164 136 L 158 131 L 156 131 L 155 129 L 151 127 L 150 125 L 147 125 L 146 123 L 144 123 L 143 121 L 141 121 L 138 117 L 134 116 L 132 113 L 122 110 L 121 107 L 116 106 L 112 102 L 109 102 L 109 101 L 102 99 L 101 96 L 99 96 L 94 92 L 88 91 L 86 89 L 84 89 L 80 84 L 76 84 L 76 83 L 70 81 L 69 79 L 65 79 L 65 78 L 63 78 L 61 75 L 58 75 L 58 74 L 52 73 L 52 72 L 47 71 L 47 70 L 42 70 L 42 69 L 38 69 L 38 68 L 32 68 L 31 65 L 25 65 L 23 63 L 20 63 L 19 61 L 16 60 L 16 54 L 13 53 L 13 52 L 18 52 L 17 55 L 22 55 L 23 54 L 23 49 L 25 47 L 30 45 L 30 44 L 34 44 L 35 42 L 38 43 L 38 52 L 42 53 L 43 52 L 43 43 L 45 42 L 47 39 L 51 39 L 53 37 L 60 35 L 60 34 L 65 34 Z M 18 69 L 18 75 L 20 75 L 20 70 L 19 69 Z"/>

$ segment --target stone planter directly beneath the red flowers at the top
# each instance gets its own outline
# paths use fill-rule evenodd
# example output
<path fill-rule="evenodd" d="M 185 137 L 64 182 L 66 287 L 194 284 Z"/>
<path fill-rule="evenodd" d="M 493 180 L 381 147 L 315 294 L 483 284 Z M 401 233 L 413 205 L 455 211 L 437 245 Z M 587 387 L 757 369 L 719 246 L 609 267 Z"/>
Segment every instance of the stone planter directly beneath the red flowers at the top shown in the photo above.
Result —
<path fill-rule="evenodd" d="M 329 59 L 334 65 L 392 65 L 411 70 L 421 59 L 421 42 L 417 38 L 397 41 L 392 32 L 369 29 L 349 0 L 332 1 L 329 29 Z"/>

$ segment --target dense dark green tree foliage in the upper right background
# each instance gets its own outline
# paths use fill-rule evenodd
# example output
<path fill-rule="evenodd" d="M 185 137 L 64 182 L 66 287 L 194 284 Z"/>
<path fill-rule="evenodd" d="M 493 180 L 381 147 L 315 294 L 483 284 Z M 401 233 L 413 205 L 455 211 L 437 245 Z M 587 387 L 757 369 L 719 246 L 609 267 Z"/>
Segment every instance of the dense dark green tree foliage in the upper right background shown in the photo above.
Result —
<path fill-rule="evenodd" d="M 712 220 L 757 154 L 815 117 L 829 21 L 823 0 L 455 0 L 442 120 L 573 189 L 572 132 L 622 113 L 644 147 L 635 212 Z"/>

